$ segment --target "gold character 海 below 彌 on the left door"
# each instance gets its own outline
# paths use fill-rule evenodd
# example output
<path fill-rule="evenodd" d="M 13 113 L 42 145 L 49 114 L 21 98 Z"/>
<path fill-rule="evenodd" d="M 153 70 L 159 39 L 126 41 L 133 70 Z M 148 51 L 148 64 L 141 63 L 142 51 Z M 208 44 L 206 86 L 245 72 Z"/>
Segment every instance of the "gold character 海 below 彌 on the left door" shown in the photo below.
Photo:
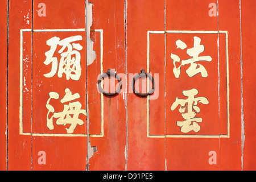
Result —
<path fill-rule="evenodd" d="M 77 102 L 70 102 L 73 100 L 76 100 L 77 98 L 80 98 L 79 93 L 72 94 L 71 90 L 65 89 L 65 96 L 60 100 L 61 104 L 64 104 L 65 102 L 69 102 L 69 105 L 64 105 L 64 109 L 62 112 L 55 113 L 55 109 L 52 105 L 49 104 L 49 101 L 51 99 L 59 99 L 59 94 L 56 92 L 50 92 L 49 93 L 49 99 L 46 103 L 46 108 L 48 109 L 47 113 L 47 127 L 49 130 L 53 130 L 53 118 L 58 118 L 56 120 L 57 125 L 66 125 L 70 124 L 70 127 L 67 130 L 68 134 L 71 134 L 76 129 L 77 125 L 83 125 L 84 122 L 79 119 L 79 114 L 84 114 L 86 116 L 86 110 L 81 109 L 81 103 L 79 101 Z M 49 118 L 49 113 L 53 113 L 52 117 Z M 71 115 L 73 117 L 71 117 Z"/>

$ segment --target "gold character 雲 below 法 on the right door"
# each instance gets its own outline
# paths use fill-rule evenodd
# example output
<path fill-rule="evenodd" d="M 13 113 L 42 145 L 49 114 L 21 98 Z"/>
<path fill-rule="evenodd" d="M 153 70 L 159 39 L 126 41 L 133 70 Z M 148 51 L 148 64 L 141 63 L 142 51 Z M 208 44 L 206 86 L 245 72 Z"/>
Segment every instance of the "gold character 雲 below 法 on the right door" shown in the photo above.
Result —
<path fill-rule="evenodd" d="M 183 90 L 183 95 L 187 96 L 187 99 L 179 99 L 176 97 L 175 102 L 171 106 L 171 110 L 175 110 L 180 105 L 179 112 L 185 121 L 177 121 L 177 126 L 181 127 L 180 131 L 188 133 L 189 131 L 199 132 L 200 126 L 197 122 L 202 122 L 202 118 L 195 118 L 196 113 L 200 112 L 200 108 L 197 104 L 209 104 L 209 101 L 205 97 L 195 97 L 198 94 L 197 89 Z M 187 113 L 185 113 L 187 109 Z M 192 125 L 191 125 L 192 124 Z"/>

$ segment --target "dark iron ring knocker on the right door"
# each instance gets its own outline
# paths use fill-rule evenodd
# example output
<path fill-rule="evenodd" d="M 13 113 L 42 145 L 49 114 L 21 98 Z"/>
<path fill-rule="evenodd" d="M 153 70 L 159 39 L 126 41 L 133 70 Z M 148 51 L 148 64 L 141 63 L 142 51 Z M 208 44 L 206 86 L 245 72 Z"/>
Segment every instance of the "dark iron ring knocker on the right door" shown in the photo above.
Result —
<path fill-rule="evenodd" d="M 142 77 L 148 77 L 151 82 L 152 82 L 152 89 L 148 92 L 148 93 L 139 93 L 136 89 L 135 89 L 135 81 L 138 79 L 138 78 L 142 78 Z M 155 91 L 155 80 L 154 78 L 148 74 L 148 73 L 145 73 L 145 70 L 142 69 L 141 70 L 141 73 L 139 73 L 138 75 L 136 75 L 134 78 L 133 78 L 133 81 L 131 82 L 131 87 L 133 88 L 133 92 L 135 94 L 137 94 L 138 96 L 141 96 L 141 97 L 146 97 L 146 96 L 149 96 L 151 95 L 152 93 L 154 93 Z"/>

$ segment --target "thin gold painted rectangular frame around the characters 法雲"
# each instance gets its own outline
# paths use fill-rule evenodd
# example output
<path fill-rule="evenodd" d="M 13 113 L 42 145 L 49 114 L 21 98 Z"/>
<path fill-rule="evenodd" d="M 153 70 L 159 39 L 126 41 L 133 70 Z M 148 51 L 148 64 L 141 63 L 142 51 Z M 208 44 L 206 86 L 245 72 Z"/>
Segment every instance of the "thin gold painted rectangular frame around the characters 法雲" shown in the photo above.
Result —
<path fill-rule="evenodd" d="M 226 35 L 226 105 L 227 105 L 227 134 L 226 135 L 150 135 L 150 111 L 149 111 L 149 97 L 147 96 L 147 137 L 148 138 L 229 138 L 230 137 L 230 113 L 229 113 L 229 53 L 228 53 L 228 31 L 147 31 L 147 72 L 150 72 L 150 34 L 166 34 L 166 33 L 180 33 L 180 34 L 225 34 Z M 149 90 L 149 87 L 147 87 Z"/>

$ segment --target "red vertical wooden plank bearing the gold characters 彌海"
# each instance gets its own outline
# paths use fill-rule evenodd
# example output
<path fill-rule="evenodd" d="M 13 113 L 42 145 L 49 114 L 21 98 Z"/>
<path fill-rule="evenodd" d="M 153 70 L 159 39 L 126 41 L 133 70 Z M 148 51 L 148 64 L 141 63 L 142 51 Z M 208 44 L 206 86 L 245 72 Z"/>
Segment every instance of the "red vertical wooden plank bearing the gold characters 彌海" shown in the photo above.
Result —
<path fill-rule="evenodd" d="M 39 16 L 43 8 L 39 3 L 42 1 L 34 1 L 32 27 L 32 169 L 86 170 L 85 1 L 44 1 L 46 16 Z M 58 71 L 46 77 L 53 68 L 53 62 L 44 63 L 51 49 L 47 41 L 52 38 L 59 38 L 52 55 L 57 58 Z M 62 40 L 66 40 L 64 44 Z M 67 62 L 61 65 L 64 60 Z M 59 75 L 61 68 L 67 72 Z M 71 73 L 69 68 L 73 68 Z M 59 98 L 49 101 L 50 92 L 56 92 Z M 61 101 L 64 97 L 66 100 Z M 47 101 L 55 109 L 49 115 Z M 53 117 L 53 112 L 60 116 Z M 52 128 L 47 125 L 47 117 L 53 117 Z M 44 155 L 46 163 L 42 163 Z"/>

